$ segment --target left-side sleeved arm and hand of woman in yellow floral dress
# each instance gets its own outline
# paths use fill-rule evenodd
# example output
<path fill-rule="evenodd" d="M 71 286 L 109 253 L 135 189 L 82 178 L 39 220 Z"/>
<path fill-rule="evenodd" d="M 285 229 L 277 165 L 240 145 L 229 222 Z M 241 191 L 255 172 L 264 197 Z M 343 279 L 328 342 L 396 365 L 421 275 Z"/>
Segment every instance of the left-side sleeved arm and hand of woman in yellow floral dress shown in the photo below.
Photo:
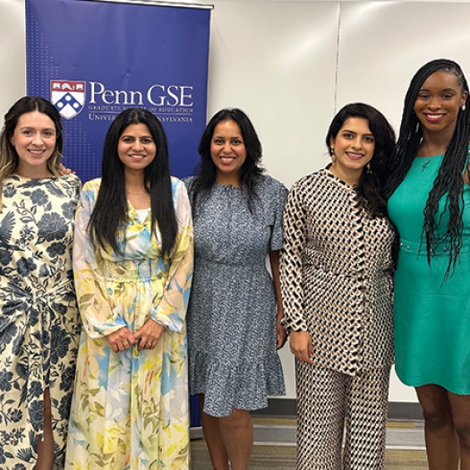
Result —
<path fill-rule="evenodd" d="M 92 182 L 85 184 L 77 209 L 73 238 L 75 290 L 80 306 L 81 320 L 90 338 L 107 337 L 124 329 L 121 334 L 117 335 L 117 338 L 111 337 L 109 341 L 113 350 L 117 352 L 125 348 L 125 341 L 131 346 L 135 340 L 132 337 L 132 332 L 124 328 L 126 325 L 124 320 L 120 318 L 119 312 L 114 312 L 111 304 L 107 302 L 105 286 L 98 266 L 97 256 L 99 257 L 99 255 L 95 252 L 88 233 L 88 223 L 97 193 L 98 188 L 93 188 Z M 115 341 L 112 342 L 113 339 Z"/>

